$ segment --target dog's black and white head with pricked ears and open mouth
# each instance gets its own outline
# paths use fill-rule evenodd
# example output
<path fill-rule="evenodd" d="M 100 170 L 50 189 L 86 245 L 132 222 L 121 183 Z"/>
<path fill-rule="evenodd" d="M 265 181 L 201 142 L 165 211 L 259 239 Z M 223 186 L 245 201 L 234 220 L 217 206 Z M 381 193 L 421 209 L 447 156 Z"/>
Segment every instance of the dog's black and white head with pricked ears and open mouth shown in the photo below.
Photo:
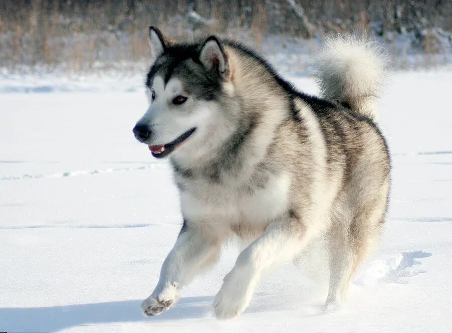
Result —
<path fill-rule="evenodd" d="M 157 158 L 196 149 L 222 117 L 226 54 L 215 37 L 199 45 L 169 45 L 153 27 L 149 42 L 154 61 L 146 81 L 149 108 L 133 129 L 135 137 Z"/>

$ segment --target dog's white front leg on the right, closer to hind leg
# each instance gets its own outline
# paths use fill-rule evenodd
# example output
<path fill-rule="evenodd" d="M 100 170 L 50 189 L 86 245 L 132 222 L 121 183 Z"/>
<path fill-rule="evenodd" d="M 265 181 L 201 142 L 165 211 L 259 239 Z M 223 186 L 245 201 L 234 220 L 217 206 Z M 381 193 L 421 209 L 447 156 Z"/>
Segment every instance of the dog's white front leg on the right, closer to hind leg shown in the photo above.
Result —
<path fill-rule="evenodd" d="M 290 259 L 306 245 L 310 229 L 294 215 L 289 213 L 283 221 L 271 223 L 240 253 L 213 302 L 218 319 L 240 315 L 250 304 L 262 273 L 274 264 Z"/>

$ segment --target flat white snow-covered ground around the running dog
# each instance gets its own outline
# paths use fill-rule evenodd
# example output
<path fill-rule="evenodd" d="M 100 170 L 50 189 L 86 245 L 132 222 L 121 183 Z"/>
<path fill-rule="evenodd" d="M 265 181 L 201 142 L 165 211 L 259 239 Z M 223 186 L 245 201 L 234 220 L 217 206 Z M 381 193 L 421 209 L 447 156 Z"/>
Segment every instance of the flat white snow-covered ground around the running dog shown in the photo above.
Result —
<path fill-rule="evenodd" d="M 293 81 L 316 92 L 309 78 Z M 324 285 L 288 263 L 229 321 L 214 319 L 210 304 L 233 246 L 170 311 L 148 318 L 139 308 L 182 221 L 168 164 L 132 135 L 146 109 L 142 78 L 133 89 L 107 79 L 100 89 L 53 89 L 71 84 L 61 82 L 0 82 L 0 331 L 452 330 L 452 72 L 393 73 L 387 86 L 389 217 L 345 308 L 323 314 Z"/>

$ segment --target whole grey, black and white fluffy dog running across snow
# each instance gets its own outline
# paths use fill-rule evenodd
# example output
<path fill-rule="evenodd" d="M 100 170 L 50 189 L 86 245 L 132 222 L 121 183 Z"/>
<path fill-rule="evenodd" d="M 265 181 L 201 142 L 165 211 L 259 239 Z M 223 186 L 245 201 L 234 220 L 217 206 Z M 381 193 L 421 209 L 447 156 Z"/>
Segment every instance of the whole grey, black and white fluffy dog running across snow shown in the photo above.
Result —
<path fill-rule="evenodd" d="M 233 236 L 249 245 L 215 297 L 217 318 L 241 314 L 262 274 L 319 235 L 330 253 L 325 309 L 340 306 L 387 210 L 390 161 L 374 122 L 383 58 L 365 39 L 329 39 L 320 99 L 239 43 L 170 42 L 154 27 L 149 42 L 149 108 L 133 131 L 169 156 L 183 225 L 145 314 L 174 305 Z"/>

